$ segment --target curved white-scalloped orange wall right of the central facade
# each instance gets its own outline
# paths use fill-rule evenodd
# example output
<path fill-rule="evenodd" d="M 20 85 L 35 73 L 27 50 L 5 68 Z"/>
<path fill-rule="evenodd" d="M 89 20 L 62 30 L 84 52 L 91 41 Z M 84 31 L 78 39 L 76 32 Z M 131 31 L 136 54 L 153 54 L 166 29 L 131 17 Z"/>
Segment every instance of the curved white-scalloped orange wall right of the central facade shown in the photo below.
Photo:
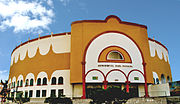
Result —
<path fill-rule="evenodd" d="M 157 73 L 157 77 L 161 81 L 161 75 L 163 74 L 168 81 L 169 76 L 172 81 L 171 68 L 169 63 L 169 55 L 167 48 L 156 40 L 149 39 L 150 47 L 150 68 L 153 72 Z M 154 76 L 153 76 L 154 77 Z"/>

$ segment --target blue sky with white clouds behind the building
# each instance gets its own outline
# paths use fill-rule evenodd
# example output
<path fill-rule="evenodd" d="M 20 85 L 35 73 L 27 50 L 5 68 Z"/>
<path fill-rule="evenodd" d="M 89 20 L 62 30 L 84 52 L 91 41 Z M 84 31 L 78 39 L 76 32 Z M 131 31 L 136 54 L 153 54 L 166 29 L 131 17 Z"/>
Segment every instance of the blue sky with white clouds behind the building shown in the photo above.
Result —
<path fill-rule="evenodd" d="M 8 79 L 12 50 L 28 38 L 71 31 L 77 20 L 122 21 L 147 25 L 150 38 L 169 50 L 173 80 L 180 80 L 180 0 L 1 0 L 0 79 Z"/>

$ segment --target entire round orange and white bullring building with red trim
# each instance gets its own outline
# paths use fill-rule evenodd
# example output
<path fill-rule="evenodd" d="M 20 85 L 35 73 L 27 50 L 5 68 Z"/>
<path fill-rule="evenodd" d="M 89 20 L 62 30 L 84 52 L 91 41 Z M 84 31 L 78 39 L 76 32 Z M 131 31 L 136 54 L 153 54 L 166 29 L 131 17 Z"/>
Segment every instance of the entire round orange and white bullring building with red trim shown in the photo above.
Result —
<path fill-rule="evenodd" d="M 86 98 L 88 88 L 133 88 L 152 96 L 151 85 L 172 81 L 168 50 L 148 38 L 147 27 L 117 16 L 81 20 L 71 32 L 28 40 L 11 55 L 10 96 Z M 157 92 L 157 91 L 156 91 Z M 131 92 L 129 92 L 131 93 Z"/>

